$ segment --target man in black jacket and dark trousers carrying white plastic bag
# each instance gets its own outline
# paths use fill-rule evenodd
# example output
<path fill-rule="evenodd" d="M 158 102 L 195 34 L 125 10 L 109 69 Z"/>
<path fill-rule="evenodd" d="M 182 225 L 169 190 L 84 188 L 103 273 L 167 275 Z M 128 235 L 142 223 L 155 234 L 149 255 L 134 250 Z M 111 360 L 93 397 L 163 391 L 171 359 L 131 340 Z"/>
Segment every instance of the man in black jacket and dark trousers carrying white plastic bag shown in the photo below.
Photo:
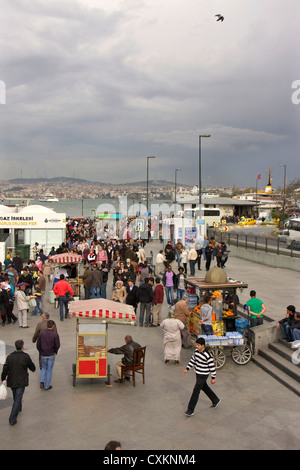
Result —
<path fill-rule="evenodd" d="M 7 386 L 12 389 L 14 402 L 9 417 L 9 424 L 14 426 L 17 424 L 17 417 L 22 411 L 22 398 L 24 395 L 25 387 L 28 386 L 28 369 L 32 372 L 35 371 L 35 365 L 31 360 L 29 354 L 23 351 L 24 341 L 18 339 L 15 342 L 16 351 L 11 353 L 6 358 L 3 366 L 1 381 L 7 379 Z"/>

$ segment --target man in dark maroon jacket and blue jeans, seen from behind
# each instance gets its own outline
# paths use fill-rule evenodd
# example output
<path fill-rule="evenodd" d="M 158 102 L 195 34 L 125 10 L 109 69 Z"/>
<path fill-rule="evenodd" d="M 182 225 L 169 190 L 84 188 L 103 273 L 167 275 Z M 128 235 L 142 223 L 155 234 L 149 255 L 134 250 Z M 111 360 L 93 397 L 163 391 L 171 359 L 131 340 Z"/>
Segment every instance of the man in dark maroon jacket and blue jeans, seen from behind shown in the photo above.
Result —
<path fill-rule="evenodd" d="M 41 376 L 40 388 L 43 390 L 50 390 L 52 388 L 51 379 L 55 362 L 55 356 L 60 348 L 60 339 L 54 329 L 55 323 L 53 320 L 48 320 L 47 328 L 39 333 L 36 347 L 41 355 Z"/>

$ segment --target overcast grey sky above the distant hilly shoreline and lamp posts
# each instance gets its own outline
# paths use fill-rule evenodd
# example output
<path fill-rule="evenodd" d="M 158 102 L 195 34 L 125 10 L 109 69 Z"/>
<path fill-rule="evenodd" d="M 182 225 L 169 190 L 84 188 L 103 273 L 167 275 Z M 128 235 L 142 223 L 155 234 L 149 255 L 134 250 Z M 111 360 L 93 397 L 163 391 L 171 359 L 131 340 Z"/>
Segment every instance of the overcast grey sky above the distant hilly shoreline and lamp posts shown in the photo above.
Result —
<path fill-rule="evenodd" d="M 198 184 L 207 133 L 204 187 L 300 178 L 299 0 L 0 6 L 0 179 Z"/>

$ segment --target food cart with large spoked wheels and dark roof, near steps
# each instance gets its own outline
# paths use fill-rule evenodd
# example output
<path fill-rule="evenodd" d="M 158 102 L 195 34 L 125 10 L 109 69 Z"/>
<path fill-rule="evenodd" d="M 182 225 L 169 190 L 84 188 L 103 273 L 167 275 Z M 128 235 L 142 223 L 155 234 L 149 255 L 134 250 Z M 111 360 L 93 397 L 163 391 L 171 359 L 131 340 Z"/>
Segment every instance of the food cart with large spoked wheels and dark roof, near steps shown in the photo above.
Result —
<path fill-rule="evenodd" d="M 194 277 L 187 278 L 186 284 L 188 285 L 188 295 L 194 298 L 197 296 L 197 306 L 190 309 L 190 334 L 205 338 L 205 343 L 211 348 L 217 369 L 223 367 L 226 362 L 226 347 L 230 348 L 231 357 L 236 364 L 247 364 L 252 358 L 249 331 L 248 335 L 245 336 L 245 325 L 247 324 L 249 328 L 249 318 L 248 321 L 241 320 L 243 325 L 241 328 L 236 328 L 236 324 L 240 320 L 237 312 L 237 289 L 247 288 L 248 284 L 231 279 L 221 283 L 205 282 L 205 279 Z M 200 308 L 205 293 L 211 296 L 213 304 L 212 327 L 214 334 L 211 336 L 202 335 L 199 324 Z M 230 304 L 225 302 L 227 296 L 230 296 Z"/>

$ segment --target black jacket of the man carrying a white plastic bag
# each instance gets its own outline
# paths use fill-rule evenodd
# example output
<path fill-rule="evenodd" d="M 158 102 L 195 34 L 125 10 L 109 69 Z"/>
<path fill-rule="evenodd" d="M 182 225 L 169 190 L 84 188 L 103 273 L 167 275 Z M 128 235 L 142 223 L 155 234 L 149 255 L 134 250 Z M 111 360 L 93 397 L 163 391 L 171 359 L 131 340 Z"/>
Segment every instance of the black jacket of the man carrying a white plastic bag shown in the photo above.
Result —
<path fill-rule="evenodd" d="M 24 351 L 14 351 L 6 358 L 1 380 L 7 380 L 10 388 L 23 388 L 29 384 L 28 369 L 35 371 L 35 365 L 29 354 Z"/>

